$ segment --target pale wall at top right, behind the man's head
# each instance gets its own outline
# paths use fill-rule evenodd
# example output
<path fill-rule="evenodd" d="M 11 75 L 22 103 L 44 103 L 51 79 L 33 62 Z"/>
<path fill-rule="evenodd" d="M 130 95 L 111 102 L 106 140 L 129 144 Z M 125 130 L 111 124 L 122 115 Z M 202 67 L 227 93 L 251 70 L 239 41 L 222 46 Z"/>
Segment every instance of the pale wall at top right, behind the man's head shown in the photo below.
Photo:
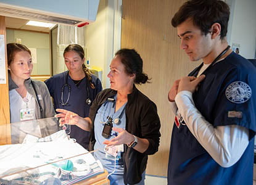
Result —
<path fill-rule="evenodd" d="M 240 53 L 246 59 L 254 59 L 256 52 L 256 1 L 233 0 L 229 45 L 240 44 Z M 232 7 L 231 7 L 232 8 Z"/>

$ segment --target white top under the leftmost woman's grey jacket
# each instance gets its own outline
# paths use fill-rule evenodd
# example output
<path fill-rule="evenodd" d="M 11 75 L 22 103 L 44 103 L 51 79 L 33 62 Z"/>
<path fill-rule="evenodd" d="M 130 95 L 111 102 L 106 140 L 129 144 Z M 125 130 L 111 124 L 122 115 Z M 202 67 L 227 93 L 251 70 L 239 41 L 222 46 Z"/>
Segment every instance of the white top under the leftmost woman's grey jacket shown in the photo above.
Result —
<path fill-rule="evenodd" d="M 10 123 L 20 122 L 20 109 L 26 109 L 27 104 L 25 101 L 23 101 L 23 98 L 15 89 L 12 89 L 9 91 L 9 97 L 10 97 Z M 28 92 L 26 97 L 28 99 L 28 108 L 34 109 L 36 111 L 35 98 L 31 96 L 31 94 Z"/>

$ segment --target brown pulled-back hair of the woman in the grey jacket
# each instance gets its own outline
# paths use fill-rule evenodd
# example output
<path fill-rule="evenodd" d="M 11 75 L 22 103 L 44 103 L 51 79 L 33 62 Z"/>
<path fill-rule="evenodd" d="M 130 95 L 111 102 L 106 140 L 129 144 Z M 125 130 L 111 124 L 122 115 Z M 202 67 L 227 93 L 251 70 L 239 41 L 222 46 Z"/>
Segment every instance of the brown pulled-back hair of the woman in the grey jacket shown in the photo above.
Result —
<path fill-rule="evenodd" d="M 30 49 L 28 49 L 28 47 L 23 44 L 18 44 L 18 43 L 7 44 L 7 64 L 8 64 L 8 66 L 12 63 L 12 60 L 14 60 L 14 56 L 15 56 L 16 52 L 19 52 L 19 51 L 27 51 L 31 55 Z"/>

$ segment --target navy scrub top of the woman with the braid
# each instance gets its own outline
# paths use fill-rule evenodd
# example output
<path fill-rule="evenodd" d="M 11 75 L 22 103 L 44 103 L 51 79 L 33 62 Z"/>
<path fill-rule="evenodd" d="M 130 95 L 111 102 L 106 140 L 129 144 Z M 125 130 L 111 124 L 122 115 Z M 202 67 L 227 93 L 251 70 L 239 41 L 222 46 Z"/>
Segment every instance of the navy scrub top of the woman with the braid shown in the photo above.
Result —
<path fill-rule="evenodd" d="M 81 80 L 79 86 L 76 86 L 76 84 L 73 82 L 72 78 L 70 78 L 69 75 L 68 78 L 66 78 L 67 75 L 68 71 L 54 75 L 45 81 L 47 88 L 49 89 L 49 92 L 54 99 L 54 109 L 66 109 L 77 113 L 78 115 L 80 115 L 80 117 L 88 117 L 90 105 L 86 104 L 85 101 L 86 99 L 88 99 L 87 86 L 89 83 L 87 79 L 84 78 L 83 80 Z M 99 78 L 94 75 L 91 76 L 95 89 L 89 87 L 89 98 L 91 99 L 91 101 L 93 101 L 97 93 L 102 90 L 102 85 Z M 68 104 L 62 105 L 62 86 L 64 86 L 64 84 L 66 83 L 66 79 L 68 85 L 70 85 L 71 88 L 70 97 Z M 68 88 L 66 86 L 63 93 L 64 103 L 67 101 L 67 97 Z M 90 134 L 88 131 L 84 131 L 78 126 L 71 125 L 70 138 L 75 138 L 76 142 L 78 142 L 81 146 L 85 147 L 85 149 L 88 149 L 89 136 Z"/>

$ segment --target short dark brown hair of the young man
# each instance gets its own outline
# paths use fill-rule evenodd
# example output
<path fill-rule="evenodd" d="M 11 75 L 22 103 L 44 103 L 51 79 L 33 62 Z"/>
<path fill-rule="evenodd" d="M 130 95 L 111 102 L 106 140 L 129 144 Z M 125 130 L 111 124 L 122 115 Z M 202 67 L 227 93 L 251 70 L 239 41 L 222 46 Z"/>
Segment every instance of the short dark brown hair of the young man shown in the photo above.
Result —
<path fill-rule="evenodd" d="M 228 31 L 229 7 L 221 0 L 189 0 L 176 12 L 171 25 L 176 28 L 187 19 L 192 19 L 204 35 L 210 32 L 213 23 L 219 23 L 223 39 Z"/>

